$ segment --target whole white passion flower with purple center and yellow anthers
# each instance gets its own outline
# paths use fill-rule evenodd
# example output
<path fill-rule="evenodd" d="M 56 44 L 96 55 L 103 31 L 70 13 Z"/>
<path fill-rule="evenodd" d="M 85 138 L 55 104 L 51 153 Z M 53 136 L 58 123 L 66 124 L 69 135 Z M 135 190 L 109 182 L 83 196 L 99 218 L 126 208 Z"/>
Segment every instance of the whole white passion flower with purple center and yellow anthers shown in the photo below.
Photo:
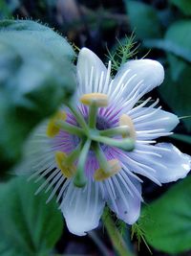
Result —
<path fill-rule="evenodd" d="M 105 204 L 128 224 L 140 213 L 141 175 L 176 181 L 190 171 L 190 156 L 156 139 L 170 135 L 179 119 L 159 101 L 139 101 L 163 81 L 151 59 L 130 60 L 116 78 L 87 48 L 78 55 L 74 100 L 37 128 L 26 146 L 26 162 L 39 193 L 53 188 L 69 230 L 79 236 L 96 228 Z"/>

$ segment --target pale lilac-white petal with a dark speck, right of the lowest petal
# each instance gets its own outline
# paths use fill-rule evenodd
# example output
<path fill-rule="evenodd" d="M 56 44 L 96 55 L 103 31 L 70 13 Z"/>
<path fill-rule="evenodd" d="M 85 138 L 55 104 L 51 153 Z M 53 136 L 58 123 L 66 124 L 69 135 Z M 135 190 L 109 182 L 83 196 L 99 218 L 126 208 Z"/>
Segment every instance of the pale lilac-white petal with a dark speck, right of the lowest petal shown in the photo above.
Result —
<path fill-rule="evenodd" d="M 130 179 L 137 189 L 138 194 L 141 195 L 141 186 L 138 180 L 133 177 Z M 140 214 L 141 199 L 135 194 L 133 189 L 130 194 L 129 189 L 131 190 L 131 188 L 128 181 L 123 179 L 122 182 L 119 175 L 113 176 L 112 181 L 116 198 L 114 200 L 114 198 L 108 196 L 107 203 L 109 207 L 117 214 L 118 219 L 125 221 L 128 224 L 133 224 L 138 220 Z"/>

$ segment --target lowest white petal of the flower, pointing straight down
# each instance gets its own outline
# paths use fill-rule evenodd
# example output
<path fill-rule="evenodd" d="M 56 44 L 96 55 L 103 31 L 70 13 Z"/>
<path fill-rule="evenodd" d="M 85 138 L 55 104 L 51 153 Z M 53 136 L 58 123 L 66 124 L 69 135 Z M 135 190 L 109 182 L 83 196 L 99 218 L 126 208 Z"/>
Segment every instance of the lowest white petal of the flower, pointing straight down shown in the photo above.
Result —
<path fill-rule="evenodd" d="M 68 229 L 78 236 L 95 229 L 103 212 L 104 201 L 98 183 L 88 181 L 85 188 L 74 187 L 71 181 L 60 205 Z"/>

